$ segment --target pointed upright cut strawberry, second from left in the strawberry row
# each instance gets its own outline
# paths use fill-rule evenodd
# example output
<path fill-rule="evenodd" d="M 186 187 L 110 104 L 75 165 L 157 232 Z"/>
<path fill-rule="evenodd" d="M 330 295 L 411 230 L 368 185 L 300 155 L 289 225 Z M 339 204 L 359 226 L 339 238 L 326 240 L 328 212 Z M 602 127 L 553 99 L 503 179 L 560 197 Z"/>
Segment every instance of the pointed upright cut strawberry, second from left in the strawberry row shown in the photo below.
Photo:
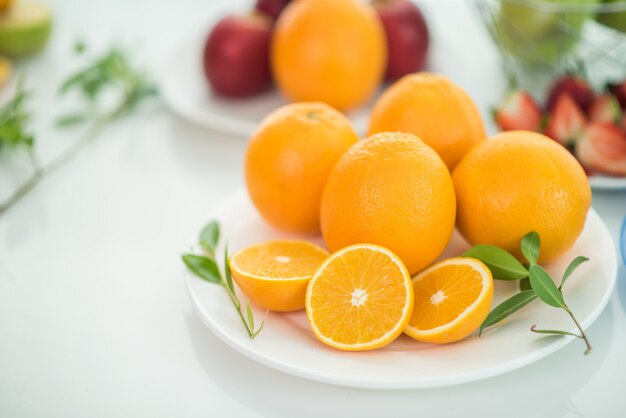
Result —
<path fill-rule="evenodd" d="M 562 94 L 556 102 L 544 133 L 563 146 L 572 148 L 585 129 L 587 120 L 569 94 Z"/>

